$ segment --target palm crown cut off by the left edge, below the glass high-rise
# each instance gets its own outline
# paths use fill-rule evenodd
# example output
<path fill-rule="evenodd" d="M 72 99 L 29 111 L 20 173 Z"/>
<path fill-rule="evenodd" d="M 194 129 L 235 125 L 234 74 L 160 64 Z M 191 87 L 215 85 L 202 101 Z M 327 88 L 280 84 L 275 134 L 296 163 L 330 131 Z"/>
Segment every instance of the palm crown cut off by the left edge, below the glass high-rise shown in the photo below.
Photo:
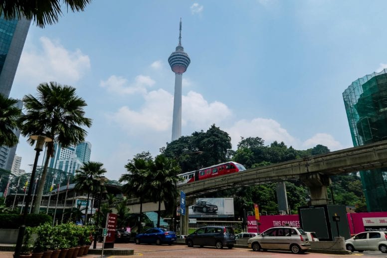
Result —
<path fill-rule="evenodd" d="M 0 94 L 0 146 L 15 146 L 18 137 L 14 134 L 17 128 L 16 119 L 21 113 L 15 104 L 16 99 L 7 98 Z"/>

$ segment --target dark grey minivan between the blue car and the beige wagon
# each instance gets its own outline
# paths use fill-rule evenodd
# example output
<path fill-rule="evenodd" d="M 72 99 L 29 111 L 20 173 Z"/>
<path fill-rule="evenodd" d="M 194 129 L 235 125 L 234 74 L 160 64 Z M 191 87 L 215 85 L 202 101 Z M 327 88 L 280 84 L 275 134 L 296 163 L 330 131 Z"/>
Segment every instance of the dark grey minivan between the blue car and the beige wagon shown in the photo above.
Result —
<path fill-rule="evenodd" d="M 189 247 L 215 246 L 217 249 L 222 249 L 226 246 L 231 249 L 235 243 L 234 229 L 223 226 L 202 227 L 186 238 L 186 244 Z"/>

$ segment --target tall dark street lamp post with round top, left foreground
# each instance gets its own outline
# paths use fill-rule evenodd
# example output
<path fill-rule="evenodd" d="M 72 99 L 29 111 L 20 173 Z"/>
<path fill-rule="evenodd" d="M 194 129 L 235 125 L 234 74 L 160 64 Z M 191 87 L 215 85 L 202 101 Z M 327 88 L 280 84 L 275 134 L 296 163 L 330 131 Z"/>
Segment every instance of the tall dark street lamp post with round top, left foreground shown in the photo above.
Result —
<path fill-rule="evenodd" d="M 20 257 L 20 251 L 21 251 L 21 246 L 23 243 L 24 232 L 25 232 L 25 223 L 27 221 L 29 199 L 31 198 L 31 192 L 32 192 L 31 182 L 33 182 L 34 177 L 35 177 L 37 161 L 39 159 L 39 153 L 43 150 L 43 145 L 45 142 L 52 141 L 51 138 L 48 138 L 48 137 L 42 136 L 42 135 L 31 135 L 29 138 L 31 138 L 31 140 L 36 141 L 36 146 L 34 149 L 36 151 L 36 154 L 35 154 L 35 161 L 33 162 L 31 178 L 29 180 L 30 184 L 28 187 L 28 192 L 27 192 L 27 196 L 26 196 L 26 200 L 25 200 L 24 212 L 23 212 L 23 215 L 21 217 L 21 225 L 19 228 L 19 234 L 17 235 L 17 242 L 16 242 L 15 253 L 13 255 L 13 258 Z"/>

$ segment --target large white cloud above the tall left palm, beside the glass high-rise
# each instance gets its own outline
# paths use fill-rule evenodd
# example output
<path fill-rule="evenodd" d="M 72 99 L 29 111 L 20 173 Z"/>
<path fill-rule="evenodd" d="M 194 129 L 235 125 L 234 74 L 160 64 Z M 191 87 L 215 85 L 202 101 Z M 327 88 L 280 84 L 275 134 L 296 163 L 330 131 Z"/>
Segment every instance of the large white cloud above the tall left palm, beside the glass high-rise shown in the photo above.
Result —
<path fill-rule="evenodd" d="M 40 37 L 41 47 L 25 48 L 17 68 L 17 83 L 34 87 L 42 81 L 72 84 L 90 70 L 90 59 L 80 49 L 71 51 L 59 41 Z"/>

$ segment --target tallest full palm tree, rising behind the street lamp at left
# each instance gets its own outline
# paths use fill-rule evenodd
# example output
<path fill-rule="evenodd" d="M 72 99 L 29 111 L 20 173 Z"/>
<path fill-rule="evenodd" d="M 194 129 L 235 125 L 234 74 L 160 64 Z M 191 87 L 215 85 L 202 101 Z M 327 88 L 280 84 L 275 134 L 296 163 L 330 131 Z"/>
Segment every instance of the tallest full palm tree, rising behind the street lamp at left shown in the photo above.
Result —
<path fill-rule="evenodd" d="M 25 95 L 22 99 L 25 115 L 18 119 L 23 136 L 45 135 L 53 141 L 46 143 L 46 159 L 40 178 L 33 213 L 38 214 L 46 180 L 48 161 L 54 153 L 54 144 L 62 147 L 76 145 L 85 141 L 86 130 L 82 126 L 91 126 L 91 119 L 84 117 L 86 102 L 75 94 L 75 88 L 56 82 L 44 82 L 37 86 L 37 98 Z M 33 145 L 34 141 L 28 139 Z"/>

